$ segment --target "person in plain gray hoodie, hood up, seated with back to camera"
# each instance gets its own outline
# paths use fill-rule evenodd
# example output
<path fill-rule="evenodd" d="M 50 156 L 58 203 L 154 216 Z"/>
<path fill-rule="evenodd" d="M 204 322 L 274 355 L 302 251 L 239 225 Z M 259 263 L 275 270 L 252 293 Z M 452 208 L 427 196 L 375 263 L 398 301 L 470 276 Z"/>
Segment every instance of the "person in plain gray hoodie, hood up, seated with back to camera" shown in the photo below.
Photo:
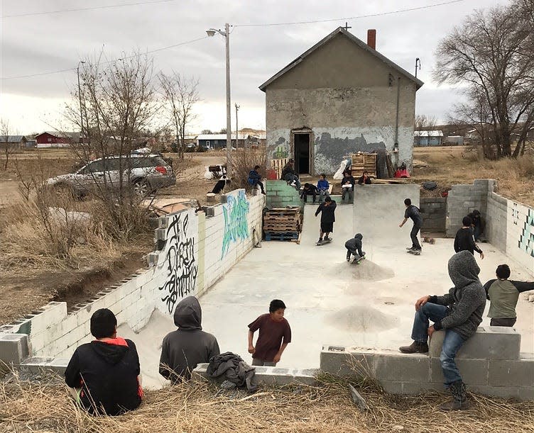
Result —
<path fill-rule="evenodd" d="M 202 331 L 202 309 L 195 296 L 180 300 L 174 311 L 178 330 L 169 332 L 161 344 L 160 375 L 176 383 L 189 380 L 197 364 L 220 354 L 217 339 Z"/>

